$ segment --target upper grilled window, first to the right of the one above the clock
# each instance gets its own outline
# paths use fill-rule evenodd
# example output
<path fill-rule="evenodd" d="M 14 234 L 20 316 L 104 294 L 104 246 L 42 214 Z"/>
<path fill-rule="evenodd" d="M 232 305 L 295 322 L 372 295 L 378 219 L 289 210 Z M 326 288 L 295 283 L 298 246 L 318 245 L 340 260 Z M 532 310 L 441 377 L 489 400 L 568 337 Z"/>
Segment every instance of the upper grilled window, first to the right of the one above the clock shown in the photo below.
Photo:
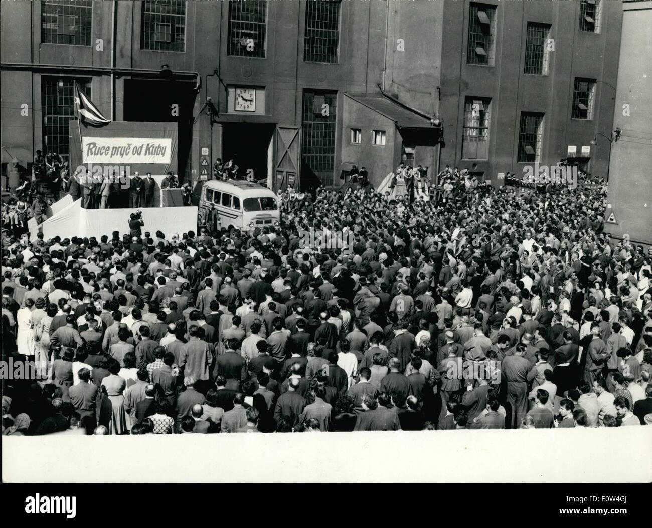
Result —
<path fill-rule="evenodd" d="M 310 0 L 306 3 L 306 35 L 303 60 L 337 63 L 340 41 L 340 0 Z"/>

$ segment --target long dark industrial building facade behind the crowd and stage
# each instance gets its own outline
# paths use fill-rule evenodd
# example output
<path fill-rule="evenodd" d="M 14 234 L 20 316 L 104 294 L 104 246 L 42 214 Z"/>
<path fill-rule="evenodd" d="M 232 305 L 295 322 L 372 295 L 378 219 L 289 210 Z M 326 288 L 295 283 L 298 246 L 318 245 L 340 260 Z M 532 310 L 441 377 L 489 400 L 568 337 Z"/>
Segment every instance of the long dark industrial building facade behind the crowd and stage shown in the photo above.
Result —
<path fill-rule="evenodd" d="M 376 185 L 401 162 L 606 174 L 590 140 L 612 130 L 621 20 L 606 0 L 2 2 L 3 174 L 67 157 L 75 80 L 108 118 L 177 122 L 192 182 L 216 158 L 274 189 L 351 163 Z"/>

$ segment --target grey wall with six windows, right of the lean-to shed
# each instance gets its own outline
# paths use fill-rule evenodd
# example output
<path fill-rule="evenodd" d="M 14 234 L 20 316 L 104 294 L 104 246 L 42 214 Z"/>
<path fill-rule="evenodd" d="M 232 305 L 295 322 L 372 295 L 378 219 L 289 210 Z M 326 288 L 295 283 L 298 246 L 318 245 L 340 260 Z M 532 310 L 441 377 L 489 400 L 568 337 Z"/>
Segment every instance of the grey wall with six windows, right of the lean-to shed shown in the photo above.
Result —
<path fill-rule="evenodd" d="M 565 158 L 567 145 L 589 145 L 596 132 L 610 130 L 614 89 L 609 81 L 617 74 L 621 29 L 619 1 L 602 1 L 600 33 L 579 31 L 579 2 L 484 2 L 496 6 L 494 66 L 466 64 L 469 2 L 445 0 L 441 59 L 441 118 L 446 146 L 442 166 L 478 164 L 485 178 L 494 181 L 499 172 L 520 173 L 517 163 L 518 125 L 522 111 L 544 117 L 542 165 Z M 547 76 L 524 74 L 527 22 L 548 23 L 555 50 L 550 52 Z M 460 55 L 459 50 L 462 50 Z M 592 120 L 571 119 L 574 77 L 597 79 Z M 606 81 L 606 84 L 605 84 Z M 487 160 L 462 159 L 464 97 L 488 97 L 491 102 L 489 155 Z M 592 154 L 590 170 L 606 175 L 608 152 Z"/>

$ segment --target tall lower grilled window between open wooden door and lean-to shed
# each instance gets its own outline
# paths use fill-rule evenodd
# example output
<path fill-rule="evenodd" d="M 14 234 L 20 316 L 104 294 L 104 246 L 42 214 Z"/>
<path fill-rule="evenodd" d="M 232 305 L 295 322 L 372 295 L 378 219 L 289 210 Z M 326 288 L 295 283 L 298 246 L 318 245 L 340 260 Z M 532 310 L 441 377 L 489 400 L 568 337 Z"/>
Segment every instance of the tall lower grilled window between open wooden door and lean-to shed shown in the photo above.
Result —
<path fill-rule="evenodd" d="M 327 105 L 319 105 L 315 100 Z M 325 186 L 333 185 L 337 92 L 303 92 L 303 161 Z"/>

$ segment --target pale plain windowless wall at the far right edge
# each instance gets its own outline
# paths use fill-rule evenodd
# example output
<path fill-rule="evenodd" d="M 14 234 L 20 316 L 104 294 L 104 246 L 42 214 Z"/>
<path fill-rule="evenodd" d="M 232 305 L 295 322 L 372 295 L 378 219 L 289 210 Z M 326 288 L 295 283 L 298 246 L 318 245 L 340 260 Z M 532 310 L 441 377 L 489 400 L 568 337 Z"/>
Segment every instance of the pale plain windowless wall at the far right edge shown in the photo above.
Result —
<path fill-rule="evenodd" d="M 617 223 L 605 224 L 605 230 L 647 244 L 652 243 L 651 73 L 652 1 L 625 1 L 614 113 L 614 128 L 623 132 L 612 146 L 605 212 L 607 218 L 613 212 Z M 608 141 L 599 146 L 608 150 Z"/>

